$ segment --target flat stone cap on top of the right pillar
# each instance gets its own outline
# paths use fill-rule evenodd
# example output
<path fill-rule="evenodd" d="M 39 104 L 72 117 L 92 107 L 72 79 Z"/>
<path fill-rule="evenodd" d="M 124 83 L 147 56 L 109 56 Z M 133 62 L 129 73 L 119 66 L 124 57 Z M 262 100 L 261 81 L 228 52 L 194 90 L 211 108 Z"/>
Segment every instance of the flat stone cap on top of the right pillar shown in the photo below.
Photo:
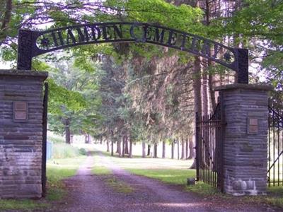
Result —
<path fill-rule="evenodd" d="M 234 83 L 226 86 L 218 86 L 214 90 L 236 90 L 236 89 L 245 89 L 245 90 L 273 90 L 274 88 L 269 84 L 243 84 L 243 83 Z"/>

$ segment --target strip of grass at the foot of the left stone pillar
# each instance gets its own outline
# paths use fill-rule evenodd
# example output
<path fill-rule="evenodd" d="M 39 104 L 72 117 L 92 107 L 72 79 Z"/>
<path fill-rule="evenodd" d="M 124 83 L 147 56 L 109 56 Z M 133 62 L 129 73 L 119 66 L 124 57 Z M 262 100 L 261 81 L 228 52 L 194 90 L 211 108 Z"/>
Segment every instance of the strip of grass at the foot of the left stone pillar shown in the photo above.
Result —
<path fill-rule="evenodd" d="M 35 209 L 43 209 L 50 206 L 50 204 L 42 203 L 30 199 L 0 199 L 0 211 L 2 210 L 21 210 L 21 211 L 33 211 Z"/>

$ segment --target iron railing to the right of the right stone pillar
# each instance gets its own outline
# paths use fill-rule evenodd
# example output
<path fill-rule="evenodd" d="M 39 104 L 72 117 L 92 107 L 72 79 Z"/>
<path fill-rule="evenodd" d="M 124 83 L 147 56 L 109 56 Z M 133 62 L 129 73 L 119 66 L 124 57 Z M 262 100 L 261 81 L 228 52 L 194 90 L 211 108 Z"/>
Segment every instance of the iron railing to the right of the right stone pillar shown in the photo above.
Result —
<path fill-rule="evenodd" d="M 283 114 L 269 106 L 268 186 L 283 185 Z"/>

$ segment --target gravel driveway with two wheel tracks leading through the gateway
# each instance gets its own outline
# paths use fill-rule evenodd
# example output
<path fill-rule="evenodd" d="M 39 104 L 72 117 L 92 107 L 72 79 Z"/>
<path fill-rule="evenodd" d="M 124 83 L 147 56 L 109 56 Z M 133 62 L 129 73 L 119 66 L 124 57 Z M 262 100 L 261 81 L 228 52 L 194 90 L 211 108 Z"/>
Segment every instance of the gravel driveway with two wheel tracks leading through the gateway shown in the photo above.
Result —
<path fill-rule="evenodd" d="M 103 155 L 101 155 L 103 156 Z M 254 206 L 241 201 L 203 199 L 182 188 L 154 179 L 131 175 L 104 157 L 115 179 L 133 188 L 121 193 L 106 184 L 111 175 L 93 175 L 95 161 L 91 155 L 81 165 L 76 176 L 67 179 L 66 202 L 54 205 L 56 211 L 279 211 L 268 206 Z M 54 211 L 54 209 L 52 210 Z"/>

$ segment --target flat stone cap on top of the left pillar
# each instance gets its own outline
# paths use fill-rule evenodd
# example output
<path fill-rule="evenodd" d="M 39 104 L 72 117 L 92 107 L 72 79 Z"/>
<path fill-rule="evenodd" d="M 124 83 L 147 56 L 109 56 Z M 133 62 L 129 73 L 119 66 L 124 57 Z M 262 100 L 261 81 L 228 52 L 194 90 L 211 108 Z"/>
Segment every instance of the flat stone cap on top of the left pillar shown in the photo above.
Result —
<path fill-rule="evenodd" d="M 40 78 L 42 81 L 45 81 L 45 79 L 48 77 L 47 71 L 23 71 L 23 70 L 16 70 L 16 69 L 0 69 L 0 77 L 1 76 L 27 76 L 27 77 L 33 77 L 33 78 Z"/>

